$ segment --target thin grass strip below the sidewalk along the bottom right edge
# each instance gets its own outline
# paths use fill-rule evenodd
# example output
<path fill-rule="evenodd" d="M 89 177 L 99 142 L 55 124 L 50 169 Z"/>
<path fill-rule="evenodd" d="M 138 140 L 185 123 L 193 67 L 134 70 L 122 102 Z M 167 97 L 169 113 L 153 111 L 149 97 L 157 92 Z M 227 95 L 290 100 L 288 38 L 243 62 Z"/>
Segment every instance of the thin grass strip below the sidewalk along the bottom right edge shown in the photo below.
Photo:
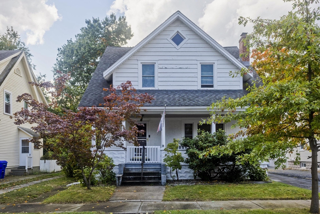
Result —
<path fill-rule="evenodd" d="M 261 210 L 164 210 L 153 214 L 307 214 L 309 209 L 261 209 Z"/>

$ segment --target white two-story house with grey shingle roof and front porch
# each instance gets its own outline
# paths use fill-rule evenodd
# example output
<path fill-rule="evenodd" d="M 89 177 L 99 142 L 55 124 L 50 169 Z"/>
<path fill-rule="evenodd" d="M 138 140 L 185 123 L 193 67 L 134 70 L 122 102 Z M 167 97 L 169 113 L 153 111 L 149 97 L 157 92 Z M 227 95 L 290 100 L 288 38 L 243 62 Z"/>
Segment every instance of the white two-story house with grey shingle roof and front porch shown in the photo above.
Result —
<path fill-rule="evenodd" d="M 240 52 L 246 50 L 245 36 L 243 33 L 240 37 Z M 144 105 L 148 111 L 141 113 L 137 120 L 144 124 L 141 128 L 145 134 L 139 136 L 139 142 L 147 148 L 146 163 L 159 164 L 164 158 L 164 148 L 173 138 L 193 138 L 197 129 L 211 133 L 223 129 L 227 134 L 238 131 L 231 129 L 232 123 L 200 125 L 199 121 L 209 117 L 207 107 L 212 102 L 224 96 L 239 98 L 247 93 L 245 88 L 259 79 L 258 75 L 255 72 L 243 77 L 229 75 L 230 71 L 247 66 L 249 58 L 239 58 L 238 47 L 222 47 L 177 11 L 135 47 L 108 46 L 79 106 L 99 106 L 107 95 L 103 88 L 110 84 L 117 87 L 128 80 L 137 93 L 153 95 L 152 104 Z M 165 105 L 165 124 L 161 134 L 157 134 Z M 124 146 L 127 150 L 111 147 L 106 154 L 116 165 L 140 164 L 141 150 L 129 143 Z M 185 156 L 185 148 L 179 149 Z M 192 171 L 183 165 L 179 177 L 193 178 Z M 167 178 L 170 178 L 168 173 Z"/>

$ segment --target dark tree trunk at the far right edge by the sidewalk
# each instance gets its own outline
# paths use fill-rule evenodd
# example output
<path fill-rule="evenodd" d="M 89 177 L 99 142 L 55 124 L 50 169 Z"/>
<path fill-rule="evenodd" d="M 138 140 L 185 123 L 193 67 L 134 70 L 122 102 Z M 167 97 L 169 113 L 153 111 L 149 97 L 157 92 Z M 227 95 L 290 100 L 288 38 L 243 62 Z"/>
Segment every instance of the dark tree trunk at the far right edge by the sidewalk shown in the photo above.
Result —
<path fill-rule="evenodd" d="M 311 177 L 312 177 L 310 212 L 311 213 L 319 213 L 318 153 L 317 153 L 316 142 L 314 142 L 314 141 L 315 141 L 314 138 L 310 141 Z"/>

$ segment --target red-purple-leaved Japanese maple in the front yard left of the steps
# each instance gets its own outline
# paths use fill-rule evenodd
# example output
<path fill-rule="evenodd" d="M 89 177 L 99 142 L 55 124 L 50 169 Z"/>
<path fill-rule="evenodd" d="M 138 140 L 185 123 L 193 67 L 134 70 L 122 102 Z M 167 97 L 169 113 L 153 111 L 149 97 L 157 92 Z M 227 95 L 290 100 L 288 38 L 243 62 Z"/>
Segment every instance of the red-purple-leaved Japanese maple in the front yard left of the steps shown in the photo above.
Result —
<path fill-rule="evenodd" d="M 62 167 L 73 165 L 79 168 L 87 189 L 90 189 L 90 177 L 106 148 L 124 148 L 124 141 L 138 146 L 137 134 L 143 131 L 138 130 L 136 120 L 132 118 L 140 113 L 144 103 L 151 103 L 153 97 L 147 93 L 136 93 L 131 82 L 127 81 L 116 88 L 111 85 L 104 88 L 108 95 L 98 107 L 79 107 L 77 112 L 62 109 L 59 114 L 55 114 L 49 110 L 58 107 L 56 100 L 59 97 L 68 96 L 63 94 L 64 82 L 67 80 L 68 76 L 64 75 L 53 85 L 32 82 L 49 91 L 50 105 L 38 102 L 30 94 L 22 94 L 18 96 L 17 102 L 26 101 L 30 108 L 14 113 L 13 118 L 17 125 L 35 124 L 32 129 L 39 134 L 39 138 L 33 138 L 32 142 L 41 146 L 42 138 L 54 139 L 52 156 L 57 159 L 57 163 Z M 55 90 L 49 90 L 52 87 Z M 123 121 L 129 127 L 125 128 Z M 65 151 L 67 155 L 59 155 Z M 89 175 L 85 175 L 86 168 L 90 169 Z"/>

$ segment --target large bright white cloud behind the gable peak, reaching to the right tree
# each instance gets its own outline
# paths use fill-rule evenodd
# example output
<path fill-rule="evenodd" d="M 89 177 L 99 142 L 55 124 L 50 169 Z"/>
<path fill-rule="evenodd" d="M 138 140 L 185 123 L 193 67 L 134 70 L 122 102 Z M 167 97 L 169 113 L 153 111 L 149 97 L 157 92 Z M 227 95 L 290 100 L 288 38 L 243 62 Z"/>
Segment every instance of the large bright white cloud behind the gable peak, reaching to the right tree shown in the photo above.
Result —
<path fill-rule="evenodd" d="M 252 25 L 238 25 L 238 17 L 278 19 L 292 10 L 291 2 L 281 0 L 238 1 L 146 1 L 116 0 L 108 14 L 124 14 L 134 36 L 128 46 L 135 46 L 174 12 L 180 10 L 222 46 L 238 46 L 242 32 L 251 32 Z"/>

